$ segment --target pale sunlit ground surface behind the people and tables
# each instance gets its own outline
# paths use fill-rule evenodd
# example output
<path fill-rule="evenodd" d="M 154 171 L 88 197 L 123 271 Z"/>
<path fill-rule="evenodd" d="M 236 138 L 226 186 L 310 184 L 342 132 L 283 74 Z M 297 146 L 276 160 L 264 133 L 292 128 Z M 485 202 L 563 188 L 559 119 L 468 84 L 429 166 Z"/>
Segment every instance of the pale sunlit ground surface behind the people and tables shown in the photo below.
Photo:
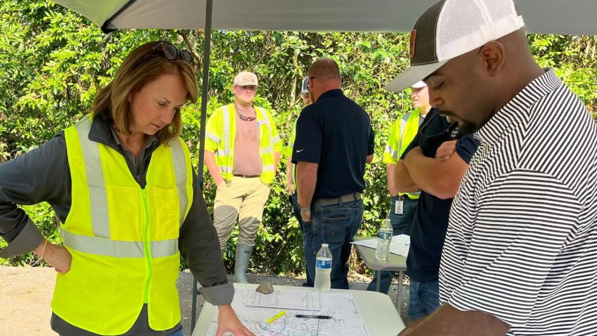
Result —
<path fill-rule="evenodd" d="M 0 335 L 45 336 L 56 335 L 50 329 L 52 292 L 56 271 L 50 267 L 8 267 L 0 266 Z M 269 281 L 273 285 L 300 286 L 302 279 L 276 276 L 249 275 L 251 283 Z M 232 279 L 229 279 L 232 280 Z M 366 280 L 366 279 L 361 279 Z M 350 289 L 365 290 L 368 282 L 351 282 Z M 184 335 L 191 334 L 193 276 L 181 272 L 177 280 L 182 311 Z M 390 298 L 396 302 L 398 286 L 390 288 Z M 197 296 L 197 316 L 201 313 L 204 300 Z M 401 316 L 407 317 L 408 285 L 402 286 Z"/>

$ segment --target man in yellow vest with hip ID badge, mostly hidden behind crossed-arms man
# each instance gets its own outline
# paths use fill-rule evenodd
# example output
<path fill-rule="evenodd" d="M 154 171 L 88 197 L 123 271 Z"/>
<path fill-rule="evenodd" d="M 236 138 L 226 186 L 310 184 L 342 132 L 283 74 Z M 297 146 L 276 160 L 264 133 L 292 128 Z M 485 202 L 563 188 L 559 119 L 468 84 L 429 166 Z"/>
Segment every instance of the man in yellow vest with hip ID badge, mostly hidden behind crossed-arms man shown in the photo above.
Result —
<path fill-rule="evenodd" d="M 383 153 L 383 161 L 386 163 L 387 190 L 390 192 L 390 196 L 392 196 L 392 207 L 389 217 L 390 221 L 392 221 L 395 236 L 398 234 L 410 234 L 413 216 L 417 210 L 419 194 L 401 193 L 396 188 L 394 181 L 396 164 L 402 152 L 404 152 L 417 135 L 418 127 L 423 122 L 427 112 L 431 109 L 427 85 L 423 81 L 419 81 L 413 84 L 411 88 L 413 88 L 411 98 L 413 99 L 413 106 L 416 110 L 404 114 L 392 125 L 390 137 L 387 139 L 386 150 Z M 367 290 L 376 291 L 377 282 L 379 281 L 379 291 L 387 293 L 390 290 L 393 276 L 393 271 L 376 271 L 373 280 L 367 286 Z"/>

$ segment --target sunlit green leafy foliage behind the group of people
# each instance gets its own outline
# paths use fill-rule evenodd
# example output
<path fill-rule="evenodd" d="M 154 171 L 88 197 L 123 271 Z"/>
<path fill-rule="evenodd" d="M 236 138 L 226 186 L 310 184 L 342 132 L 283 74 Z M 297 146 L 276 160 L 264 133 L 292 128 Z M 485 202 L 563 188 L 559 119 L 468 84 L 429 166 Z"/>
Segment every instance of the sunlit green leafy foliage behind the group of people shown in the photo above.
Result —
<path fill-rule="evenodd" d="M 120 30 L 104 35 L 89 20 L 47 0 L 0 2 L 0 162 L 41 145 L 88 113 L 98 88 L 106 85 L 124 57 L 137 45 L 167 39 L 193 51 L 202 65 L 204 32 Z M 387 216 L 384 145 L 393 121 L 410 111 L 410 92 L 389 93 L 383 85 L 408 66 L 408 35 L 403 33 L 306 33 L 217 30 L 212 34 L 208 114 L 233 99 L 232 79 L 239 71 L 259 76 L 257 105 L 273 111 L 287 143 L 302 108 L 300 83 L 313 60 L 331 57 L 340 66 L 343 89 L 371 117 L 376 159 L 365 175 L 362 235 L 373 235 Z M 597 69 L 594 36 L 530 35 L 542 66 L 553 66 L 595 113 Z M 198 80 L 201 85 L 201 67 Z M 183 138 L 198 160 L 200 102 L 183 109 Z M 284 153 L 267 201 L 251 269 L 259 273 L 302 274 L 302 237 L 291 215 L 285 187 Z M 213 207 L 215 186 L 205 175 L 205 200 Z M 47 204 L 24 207 L 45 237 L 59 242 L 58 221 Z M 238 231 L 225 256 L 232 266 Z M 0 248 L 5 242 L 0 242 Z M 24 255 L 3 264 L 39 264 Z M 364 271 L 359 268 L 359 271 Z"/>

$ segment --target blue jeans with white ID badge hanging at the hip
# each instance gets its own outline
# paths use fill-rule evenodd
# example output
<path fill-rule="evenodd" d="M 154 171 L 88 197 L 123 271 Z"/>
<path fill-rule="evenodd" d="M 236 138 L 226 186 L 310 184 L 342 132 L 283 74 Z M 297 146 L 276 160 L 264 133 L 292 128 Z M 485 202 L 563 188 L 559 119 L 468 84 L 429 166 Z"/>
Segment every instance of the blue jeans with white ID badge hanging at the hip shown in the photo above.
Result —
<path fill-rule="evenodd" d="M 402 207 L 402 214 L 395 213 L 396 201 L 401 200 L 400 196 L 392 197 L 392 209 L 390 209 L 390 221 L 392 221 L 392 227 L 394 228 L 394 236 L 398 234 L 410 235 L 410 227 L 413 224 L 414 213 L 417 210 L 418 200 L 411 200 L 407 196 L 404 196 L 404 204 Z M 367 291 L 375 291 L 377 287 L 378 277 L 381 274 L 381 280 L 379 284 L 379 291 L 386 293 L 390 290 L 392 285 L 392 278 L 394 277 L 394 271 L 376 271 L 373 275 L 373 280 L 367 286 Z"/>

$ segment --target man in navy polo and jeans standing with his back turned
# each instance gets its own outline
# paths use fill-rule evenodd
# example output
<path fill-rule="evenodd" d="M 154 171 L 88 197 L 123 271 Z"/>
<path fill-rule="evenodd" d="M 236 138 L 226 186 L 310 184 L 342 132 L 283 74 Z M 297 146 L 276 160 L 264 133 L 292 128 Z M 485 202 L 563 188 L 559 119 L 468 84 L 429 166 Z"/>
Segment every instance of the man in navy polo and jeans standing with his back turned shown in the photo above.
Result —
<path fill-rule="evenodd" d="M 371 120 L 340 89 L 340 70 L 331 59 L 309 69 L 313 101 L 298 117 L 293 163 L 303 219 L 307 274 L 315 279 L 316 255 L 327 243 L 333 256 L 331 288 L 348 289 L 350 242 L 361 227 L 365 163 L 373 161 Z"/>

